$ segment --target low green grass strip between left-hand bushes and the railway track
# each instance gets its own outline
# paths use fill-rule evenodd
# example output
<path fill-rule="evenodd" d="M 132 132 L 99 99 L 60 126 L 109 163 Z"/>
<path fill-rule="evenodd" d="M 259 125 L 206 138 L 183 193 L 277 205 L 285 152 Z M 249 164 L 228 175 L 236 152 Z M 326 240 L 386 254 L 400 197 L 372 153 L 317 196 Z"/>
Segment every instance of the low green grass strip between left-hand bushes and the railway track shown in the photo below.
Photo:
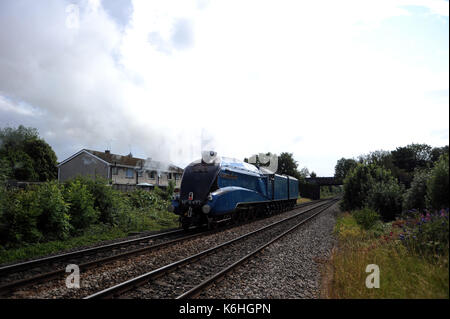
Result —
<path fill-rule="evenodd" d="M 142 210 L 134 211 L 127 218 L 129 220 L 127 220 L 126 227 L 94 225 L 86 230 L 83 235 L 66 240 L 28 244 L 8 249 L 0 246 L 0 264 L 63 252 L 102 241 L 124 238 L 131 232 L 158 231 L 179 227 L 178 216 L 168 212 L 152 211 L 149 213 Z"/>

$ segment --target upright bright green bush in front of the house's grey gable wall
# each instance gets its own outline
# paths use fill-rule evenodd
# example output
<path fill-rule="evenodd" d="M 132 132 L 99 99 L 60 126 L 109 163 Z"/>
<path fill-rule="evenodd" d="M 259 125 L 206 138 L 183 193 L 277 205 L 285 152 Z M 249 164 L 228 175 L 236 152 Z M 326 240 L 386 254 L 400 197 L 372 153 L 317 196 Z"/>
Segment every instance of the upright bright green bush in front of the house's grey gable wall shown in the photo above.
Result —
<path fill-rule="evenodd" d="M 64 198 L 70 205 L 69 215 L 73 233 L 81 233 L 83 229 L 97 222 L 99 213 L 94 209 L 94 196 L 80 179 L 74 179 L 66 184 Z"/>

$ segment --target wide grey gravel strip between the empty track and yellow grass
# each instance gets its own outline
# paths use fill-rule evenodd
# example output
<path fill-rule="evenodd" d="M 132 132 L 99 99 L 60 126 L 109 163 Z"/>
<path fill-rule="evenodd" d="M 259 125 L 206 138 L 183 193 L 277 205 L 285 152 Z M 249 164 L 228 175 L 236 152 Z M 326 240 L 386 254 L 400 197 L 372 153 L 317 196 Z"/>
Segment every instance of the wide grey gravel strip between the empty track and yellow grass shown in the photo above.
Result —
<path fill-rule="evenodd" d="M 335 244 L 338 207 L 273 243 L 198 298 L 320 298 L 321 267 Z"/>

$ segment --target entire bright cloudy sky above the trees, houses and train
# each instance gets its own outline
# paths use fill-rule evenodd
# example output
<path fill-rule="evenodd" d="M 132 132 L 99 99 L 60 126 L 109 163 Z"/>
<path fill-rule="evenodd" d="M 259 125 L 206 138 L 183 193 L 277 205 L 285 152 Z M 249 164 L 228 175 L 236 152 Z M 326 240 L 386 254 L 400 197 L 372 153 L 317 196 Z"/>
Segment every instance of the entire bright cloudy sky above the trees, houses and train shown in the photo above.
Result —
<path fill-rule="evenodd" d="M 0 127 L 184 167 L 202 149 L 341 157 L 449 141 L 449 3 L 0 2 Z"/>

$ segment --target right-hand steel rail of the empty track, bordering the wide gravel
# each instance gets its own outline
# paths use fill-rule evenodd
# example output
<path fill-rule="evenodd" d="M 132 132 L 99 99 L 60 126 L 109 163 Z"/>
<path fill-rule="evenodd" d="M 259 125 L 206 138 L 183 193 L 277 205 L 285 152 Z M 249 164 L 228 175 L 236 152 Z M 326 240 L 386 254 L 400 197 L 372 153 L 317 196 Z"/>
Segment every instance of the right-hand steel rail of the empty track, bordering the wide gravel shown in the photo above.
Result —
<path fill-rule="evenodd" d="M 276 242 L 277 240 L 283 238 L 284 236 L 286 236 L 287 234 L 291 233 L 292 231 L 294 231 L 295 229 L 297 229 L 298 227 L 300 227 L 301 225 L 307 223 L 308 221 L 310 221 L 312 218 L 316 217 L 317 215 L 319 215 L 320 213 L 322 213 L 323 211 L 327 210 L 328 208 L 330 208 L 331 206 L 333 206 L 337 201 L 334 200 L 332 203 L 330 203 L 328 206 L 324 207 L 323 209 L 321 209 L 320 211 L 318 211 L 317 213 L 315 213 L 314 215 L 302 220 L 301 222 L 299 222 L 297 225 L 294 225 L 293 227 L 289 228 L 288 230 L 286 230 L 285 232 L 283 232 L 282 234 L 276 236 L 275 238 L 273 238 L 272 240 L 270 240 L 269 242 L 265 243 L 264 245 L 260 246 L 259 248 L 255 249 L 254 251 L 252 251 L 251 253 L 247 254 L 246 256 L 242 257 L 241 259 L 239 259 L 238 261 L 236 261 L 235 263 L 233 263 L 232 265 L 224 268 L 223 270 L 221 270 L 220 272 L 218 272 L 217 274 L 209 277 L 208 279 L 202 281 L 200 284 L 198 284 L 197 286 L 193 287 L 192 289 L 186 291 L 185 293 L 179 295 L 178 297 L 176 297 L 175 299 L 187 299 L 187 298 L 193 298 L 198 296 L 202 291 L 206 290 L 209 286 L 211 286 L 212 284 L 214 284 L 215 282 L 219 281 L 220 279 L 224 278 L 229 272 L 231 272 L 232 270 L 235 270 L 238 266 L 242 265 L 243 263 L 247 262 L 248 260 L 250 260 L 252 257 L 255 257 L 258 253 L 261 253 L 266 247 L 270 246 L 271 244 L 273 244 L 274 242 Z"/>

